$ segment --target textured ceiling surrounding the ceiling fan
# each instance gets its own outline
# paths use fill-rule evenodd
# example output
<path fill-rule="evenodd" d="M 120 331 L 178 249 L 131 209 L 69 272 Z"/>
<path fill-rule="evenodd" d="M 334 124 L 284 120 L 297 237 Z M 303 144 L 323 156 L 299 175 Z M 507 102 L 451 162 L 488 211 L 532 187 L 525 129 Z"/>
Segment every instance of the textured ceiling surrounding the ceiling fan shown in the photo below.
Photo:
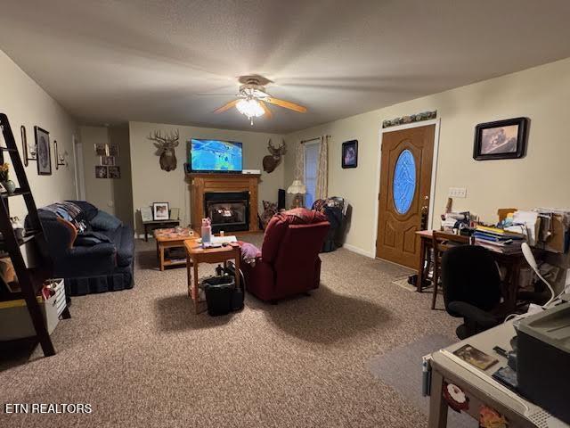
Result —
<path fill-rule="evenodd" d="M 83 123 L 248 129 L 211 111 L 258 73 L 309 112 L 272 106 L 254 130 L 289 132 L 566 58 L 568 17 L 567 0 L 4 0 L 0 48 Z"/>

